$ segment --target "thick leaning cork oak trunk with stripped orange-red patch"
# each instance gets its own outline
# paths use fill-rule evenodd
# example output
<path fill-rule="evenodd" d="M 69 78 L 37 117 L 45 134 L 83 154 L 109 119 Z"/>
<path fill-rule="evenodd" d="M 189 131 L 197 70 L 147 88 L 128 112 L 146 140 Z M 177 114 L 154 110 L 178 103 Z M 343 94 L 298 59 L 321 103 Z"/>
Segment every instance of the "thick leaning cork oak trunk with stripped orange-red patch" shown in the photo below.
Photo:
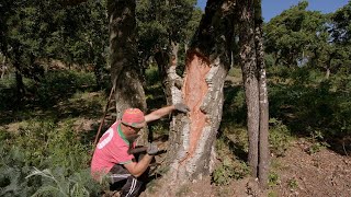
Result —
<path fill-rule="evenodd" d="M 210 175 L 214 142 L 222 120 L 223 88 L 230 68 L 235 1 L 208 0 L 197 34 L 186 53 L 183 101 L 191 112 L 174 117 L 162 167 L 168 169 L 158 189 L 174 196 L 177 189 Z"/>

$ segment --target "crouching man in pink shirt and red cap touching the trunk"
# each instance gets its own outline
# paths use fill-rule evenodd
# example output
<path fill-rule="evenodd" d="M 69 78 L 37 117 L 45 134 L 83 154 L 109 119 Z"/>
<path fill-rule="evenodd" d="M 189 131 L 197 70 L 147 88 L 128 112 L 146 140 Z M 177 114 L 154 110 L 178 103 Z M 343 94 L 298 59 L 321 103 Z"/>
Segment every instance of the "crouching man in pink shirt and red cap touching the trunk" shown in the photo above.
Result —
<path fill-rule="evenodd" d="M 157 120 L 173 111 L 188 113 L 189 107 L 179 103 L 159 108 L 146 116 L 138 108 L 127 108 L 122 119 L 115 121 L 99 140 L 91 161 L 93 178 L 101 182 L 103 177 L 106 177 L 111 184 L 127 179 L 122 187 L 121 195 L 137 196 L 143 185 L 138 177 L 148 169 L 158 148 L 155 143 L 149 143 L 147 154 L 138 162 L 128 151 L 135 148 L 134 140 L 147 123 Z"/>

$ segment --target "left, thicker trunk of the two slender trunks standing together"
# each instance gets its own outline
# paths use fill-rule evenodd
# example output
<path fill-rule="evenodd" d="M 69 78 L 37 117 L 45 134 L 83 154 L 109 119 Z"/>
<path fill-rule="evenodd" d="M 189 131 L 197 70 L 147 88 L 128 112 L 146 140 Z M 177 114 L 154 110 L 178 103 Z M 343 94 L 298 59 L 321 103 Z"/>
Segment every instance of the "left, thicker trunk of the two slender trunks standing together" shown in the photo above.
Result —
<path fill-rule="evenodd" d="M 238 1 L 240 11 L 240 65 L 248 108 L 249 158 L 251 175 L 258 173 L 258 140 L 260 127 L 259 81 L 256 62 L 253 4 L 251 1 Z"/>

